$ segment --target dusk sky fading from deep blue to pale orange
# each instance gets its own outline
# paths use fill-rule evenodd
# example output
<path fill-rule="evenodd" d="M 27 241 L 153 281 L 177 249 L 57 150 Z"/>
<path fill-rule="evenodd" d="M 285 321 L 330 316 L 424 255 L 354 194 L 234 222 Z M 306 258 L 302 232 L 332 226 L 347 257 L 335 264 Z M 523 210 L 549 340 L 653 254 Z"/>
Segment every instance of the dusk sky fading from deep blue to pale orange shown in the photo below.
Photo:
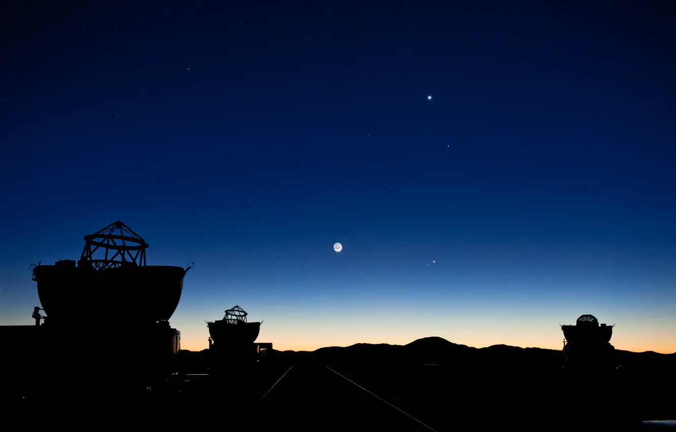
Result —
<path fill-rule="evenodd" d="M 0 324 L 120 219 L 184 349 L 676 351 L 673 2 L 123 3 L 0 14 Z"/>

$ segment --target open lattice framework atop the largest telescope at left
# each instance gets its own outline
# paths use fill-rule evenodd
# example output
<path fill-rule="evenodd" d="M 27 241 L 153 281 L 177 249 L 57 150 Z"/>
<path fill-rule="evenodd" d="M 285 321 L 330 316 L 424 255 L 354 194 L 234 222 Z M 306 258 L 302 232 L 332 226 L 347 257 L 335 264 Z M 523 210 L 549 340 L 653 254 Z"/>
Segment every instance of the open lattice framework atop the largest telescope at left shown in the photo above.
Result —
<path fill-rule="evenodd" d="M 145 265 L 145 249 L 148 244 L 121 221 L 115 221 L 95 234 L 84 236 L 87 242 L 82 249 L 80 263 L 91 263 L 93 269 L 120 267 L 121 265 Z M 94 253 L 105 250 L 103 257 Z M 124 264 L 123 264 L 124 263 Z"/>

